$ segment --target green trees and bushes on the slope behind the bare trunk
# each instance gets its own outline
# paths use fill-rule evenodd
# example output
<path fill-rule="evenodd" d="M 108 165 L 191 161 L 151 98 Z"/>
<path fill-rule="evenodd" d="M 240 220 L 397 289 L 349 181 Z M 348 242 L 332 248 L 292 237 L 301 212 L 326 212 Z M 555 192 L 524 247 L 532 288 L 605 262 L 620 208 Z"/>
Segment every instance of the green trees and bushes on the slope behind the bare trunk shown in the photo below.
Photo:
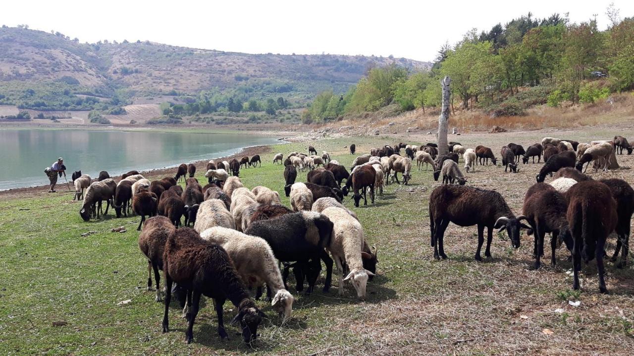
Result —
<path fill-rule="evenodd" d="M 390 65 L 373 68 L 345 94 L 323 91 L 302 114 L 306 123 L 377 111 L 438 106 L 440 80 L 452 79 L 452 107 L 481 108 L 494 116 L 523 115 L 533 105 L 593 103 L 612 92 L 634 89 L 634 18 L 611 26 L 595 20 L 571 23 L 559 14 L 536 19 L 529 13 L 488 32 L 472 30 L 439 51 L 432 70 Z"/>

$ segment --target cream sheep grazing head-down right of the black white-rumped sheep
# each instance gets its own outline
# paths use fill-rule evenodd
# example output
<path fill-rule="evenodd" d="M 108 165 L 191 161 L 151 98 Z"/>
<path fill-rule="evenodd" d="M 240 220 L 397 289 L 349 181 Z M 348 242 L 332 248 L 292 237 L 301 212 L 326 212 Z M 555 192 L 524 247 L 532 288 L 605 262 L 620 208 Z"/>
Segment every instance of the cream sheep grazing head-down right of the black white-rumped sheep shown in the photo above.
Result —
<path fill-rule="evenodd" d="M 358 220 L 347 214 L 346 209 L 330 207 L 322 213 L 333 223 L 332 238 L 326 249 L 330 251 L 339 271 L 339 295 L 344 295 L 344 281 L 351 281 L 356 289 L 357 297 L 365 299 L 368 276 L 374 274 L 363 267 L 361 258 L 365 240 L 363 227 Z M 345 278 L 344 263 L 350 271 Z"/>

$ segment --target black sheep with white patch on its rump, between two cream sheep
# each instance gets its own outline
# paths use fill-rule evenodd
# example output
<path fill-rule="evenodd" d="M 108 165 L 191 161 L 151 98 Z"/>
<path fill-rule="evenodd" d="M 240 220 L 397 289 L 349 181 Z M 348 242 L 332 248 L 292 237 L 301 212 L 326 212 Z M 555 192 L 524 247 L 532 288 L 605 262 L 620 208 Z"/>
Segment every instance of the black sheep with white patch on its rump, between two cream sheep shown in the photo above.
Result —
<path fill-rule="evenodd" d="M 275 219 L 255 221 L 245 234 L 266 240 L 280 262 L 297 262 L 297 269 L 307 276 L 306 293 L 309 294 L 313 291 L 321 270 L 320 257 L 330 260 L 324 248 L 330 245 L 332 229 L 333 223 L 325 215 L 297 212 Z M 332 266 L 332 260 L 330 265 Z M 332 279 L 332 268 L 327 271 L 327 281 L 328 275 Z M 298 278 L 297 281 L 297 291 L 302 291 L 303 279 Z M 328 290 L 326 286 L 324 289 Z"/>

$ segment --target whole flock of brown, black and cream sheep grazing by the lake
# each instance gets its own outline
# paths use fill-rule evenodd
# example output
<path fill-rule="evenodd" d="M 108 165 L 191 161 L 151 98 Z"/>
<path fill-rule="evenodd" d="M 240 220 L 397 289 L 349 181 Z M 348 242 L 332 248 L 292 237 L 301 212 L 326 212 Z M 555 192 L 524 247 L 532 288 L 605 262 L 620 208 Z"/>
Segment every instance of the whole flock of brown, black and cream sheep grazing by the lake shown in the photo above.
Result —
<path fill-rule="evenodd" d="M 521 229 L 526 229 L 534 235 L 538 268 L 543 240 L 550 232 L 553 265 L 559 245 L 564 243 L 571 251 L 574 288 L 579 288 L 581 260 L 597 258 L 599 288 L 607 291 L 603 267 L 605 241 L 616 231 L 618 245 L 613 258 L 618 257 L 622 248 L 619 267 L 623 267 L 628 257 L 634 190 L 621 179 L 594 181 L 581 169 L 592 161 L 598 162 L 597 167 L 607 169 L 610 156 L 618 148 L 620 153 L 623 149 L 628 154 L 632 151 L 620 136 L 595 145 L 546 137 L 526 150 L 519 144 L 503 146 L 500 153 L 505 172 L 508 169 L 517 172 L 520 158 L 524 164 L 531 158 L 533 163 L 534 158 L 540 163 L 541 156 L 545 161 L 536 177 L 537 183 L 526 193 L 524 211 L 519 216 L 500 193 L 465 186 L 467 178 L 458 167 L 459 155 L 463 156 L 466 172 L 475 172 L 477 163 L 486 165 L 491 160 L 496 165 L 492 149 L 484 146 L 470 149 L 456 142 L 450 142 L 448 153 L 444 154 L 439 154 L 433 143 L 372 148 L 370 153 L 357 156 L 350 170 L 331 160 L 326 151 L 318 156 L 313 146 L 309 146 L 308 155 L 292 152 L 284 157 L 278 153 L 273 164 L 284 167 L 284 191 L 290 198 L 290 208 L 281 204 L 275 190 L 243 186 L 240 168 L 261 166 L 257 155 L 240 161 L 210 161 L 205 172 L 209 182 L 205 186 L 193 177 L 196 167 L 192 164 L 179 166 L 175 177 L 156 181 L 149 181 L 136 171 L 122 175 L 118 183 L 107 172 L 101 172 L 98 181 L 92 183 L 91 177 L 81 172 L 75 172 L 73 179 L 75 198 L 83 198 L 82 219 L 98 218 L 103 201 L 107 203 L 105 213 L 112 206 L 117 217 L 127 216 L 131 208 L 141 217 L 139 248 L 148 260 L 148 290 L 152 290 L 153 272 L 157 302 L 162 300 L 159 270 L 164 272 L 164 332 L 169 329 L 172 296 L 169 292 L 174 290 L 189 323 L 188 343 L 193 339 L 192 327 L 201 295 L 216 302 L 221 338 L 228 338 L 222 313 L 223 304 L 229 299 L 238 310 L 232 323 L 240 324 L 243 341 L 250 342 L 257 338 L 257 326 L 266 315 L 254 303 L 249 288 L 256 288 L 255 298 L 260 298 L 262 285 L 266 284 L 266 300 L 286 319 L 294 302 L 287 287 L 291 269 L 295 289 L 303 291 L 306 280 L 306 293 L 311 293 L 324 262 L 327 274 L 323 290 L 328 291 L 334 262 L 339 274 L 339 294 L 344 293 L 344 282 L 349 281 L 358 298 L 365 298 L 366 284 L 375 276 L 377 250 L 368 246 L 356 214 L 344 207 L 342 201 L 352 192 L 356 207 L 361 198 L 367 205 L 369 190 L 374 203 L 375 189 L 382 194 L 389 182 L 399 183 L 398 173 L 403 183 L 408 184 L 413 160 L 417 161 L 418 170 L 422 170 L 423 163 L 431 165 L 436 181 L 443 175 L 443 184 L 429 198 L 430 245 L 435 258 L 447 258 L 443 239 L 450 222 L 459 226 L 477 225 L 476 260 L 482 260 L 484 227 L 486 257 L 491 257 L 493 229 L 506 230 L 514 248 L 520 246 Z M 354 144 L 350 153 L 356 153 Z M 302 171 L 308 171 L 306 182 L 297 182 L 297 174 Z M 555 179 L 544 184 L 548 174 L 555 174 Z M 178 185 L 181 179 L 185 181 L 184 188 Z"/>

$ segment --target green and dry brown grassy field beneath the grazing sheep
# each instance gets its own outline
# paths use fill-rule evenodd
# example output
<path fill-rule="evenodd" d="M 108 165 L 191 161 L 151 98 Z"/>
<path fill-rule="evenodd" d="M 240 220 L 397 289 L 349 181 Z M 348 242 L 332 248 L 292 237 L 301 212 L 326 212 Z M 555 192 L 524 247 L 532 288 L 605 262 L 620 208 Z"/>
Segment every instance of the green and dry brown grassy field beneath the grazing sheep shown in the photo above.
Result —
<path fill-rule="evenodd" d="M 619 132 L 626 137 L 632 132 Z M 588 141 L 614 136 L 610 129 L 566 132 L 566 138 Z M 543 132 L 452 136 L 465 146 L 487 143 L 498 155 L 509 141 L 533 143 Z M 557 136 L 557 135 L 555 135 Z M 587 137 L 587 138 L 586 138 Z M 426 141 L 425 137 L 418 137 Z M 407 138 L 366 137 L 327 139 L 314 143 L 321 151 L 349 167 L 358 153 Z M 412 140 L 410 139 L 409 142 Z M 420 141 L 417 141 L 420 143 Z M 280 191 L 283 203 L 283 166 L 272 165 L 277 152 L 305 151 L 306 143 L 275 146 L 262 155 L 262 168 L 241 171 L 245 186 L 268 186 Z M 619 156 L 624 166 L 634 156 Z M 461 165 L 462 166 L 462 165 Z M 515 213 L 521 212 L 526 189 L 541 165 L 522 165 L 517 174 L 499 167 L 477 166 L 468 184 L 497 189 Z M 204 172 L 197 175 L 204 181 Z M 171 331 L 161 333 L 162 305 L 145 290 L 147 271 L 137 239 L 138 217 L 83 222 L 81 203 L 72 193 L 42 194 L 32 198 L 0 196 L 0 354 L 1 355 L 209 355 L 257 353 L 265 355 L 631 355 L 634 350 L 634 273 L 606 263 L 609 295 L 600 295 L 596 267 L 583 267 L 582 291 L 571 290 L 571 263 L 563 250 L 556 268 L 546 264 L 531 270 L 532 236 L 522 234 L 514 250 L 506 234 L 494 238 L 493 258 L 476 262 L 475 227 L 450 225 L 446 232 L 448 260 L 436 261 L 429 246 L 428 197 L 439 185 L 431 171 L 413 170 L 410 186 L 390 185 L 374 205 L 346 207 L 359 216 L 370 245 L 378 247 L 378 277 L 368 283 L 365 302 L 337 281 L 329 295 L 320 286 L 310 296 L 295 295 L 294 316 L 286 324 L 260 301 L 271 316 L 259 329 L 253 345 L 241 343 L 235 326 L 231 340 L 221 342 L 216 313 L 209 300 L 194 327 L 194 342 L 184 343 L 186 322 L 172 305 Z M 630 170 L 603 176 L 633 182 Z M 305 181 L 305 173 L 298 181 Z M 547 180 L 548 182 L 549 180 Z M 58 191 L 62 191 L 60 189 Z M 125 226 L 127 232 L 110 232 Z M 86 232 L 93 232 L 81 236 Z M 608 254 L 614 248 L 609 240 Z M 548 258 L 548 251 L 546 257 Z M 294 287 L 290 287 L 294 291 Z M 125 305 L 117 305 L 131 300 Z M 580 301 L 579 307 L 569 300 Z M 225 304 L 225 322 L 235 308 Z M 55 322 L 66 322 L 55 326 Z"/>

